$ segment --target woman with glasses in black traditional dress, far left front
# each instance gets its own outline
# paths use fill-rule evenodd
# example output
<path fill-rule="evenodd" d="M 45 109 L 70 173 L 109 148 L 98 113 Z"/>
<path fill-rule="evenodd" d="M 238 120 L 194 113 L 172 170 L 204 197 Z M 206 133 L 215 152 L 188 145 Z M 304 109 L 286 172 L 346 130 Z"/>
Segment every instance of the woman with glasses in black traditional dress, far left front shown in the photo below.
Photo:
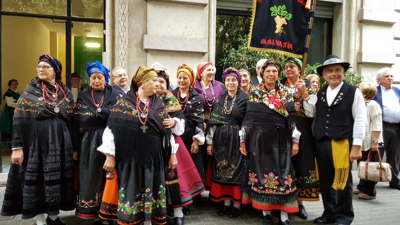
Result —
<path fill-rule="evenodd" d="M 60 61 L 43 54 L 36 70 L 38 77 L 22 92 L 14 111 L 12 164 L 1 215 L 35 217 L 37 225 L 62 224 L 60 210 L 74 209 L 74 100 L 61 82 Z"/>

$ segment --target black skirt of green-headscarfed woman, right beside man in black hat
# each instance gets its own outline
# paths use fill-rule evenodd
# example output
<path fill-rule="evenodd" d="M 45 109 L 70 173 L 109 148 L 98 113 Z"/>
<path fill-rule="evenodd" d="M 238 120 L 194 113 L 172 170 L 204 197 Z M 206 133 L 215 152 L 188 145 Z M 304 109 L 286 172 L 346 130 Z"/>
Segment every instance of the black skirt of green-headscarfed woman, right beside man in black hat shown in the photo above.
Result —
<path fill-rule="evenodd" d="M 297 117 L 297 128 L 301 132 L 301 136 L 299 151 L 292 157 L 297 196 L 299 200 L 303 201 L 319 200 L 311 123 L 309 118 Z"/>

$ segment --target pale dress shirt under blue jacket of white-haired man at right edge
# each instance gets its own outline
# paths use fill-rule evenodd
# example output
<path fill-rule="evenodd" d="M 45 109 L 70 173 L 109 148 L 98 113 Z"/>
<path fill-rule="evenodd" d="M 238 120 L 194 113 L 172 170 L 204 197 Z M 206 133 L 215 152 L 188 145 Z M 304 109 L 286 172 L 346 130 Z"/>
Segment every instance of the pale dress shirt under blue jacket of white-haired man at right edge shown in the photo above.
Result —
<path fill-rule="evenodd" d="M 393 89 L 386 90 L 382 85 L 382 120 L 388 123 L 400 123 L 400 102 Z"/>

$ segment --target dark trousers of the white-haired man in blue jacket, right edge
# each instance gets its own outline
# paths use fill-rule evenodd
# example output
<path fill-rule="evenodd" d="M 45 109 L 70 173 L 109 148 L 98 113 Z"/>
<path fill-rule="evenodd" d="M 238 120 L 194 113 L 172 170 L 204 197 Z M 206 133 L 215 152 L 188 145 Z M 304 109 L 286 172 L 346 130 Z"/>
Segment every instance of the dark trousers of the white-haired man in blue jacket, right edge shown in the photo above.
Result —
<path fill-rule="evenodd" d="M 389 185 L 399 185 L 400 123 L 386 123 L 383 121 L 382 128 L 386 162 L 392 167 L 392 180 Z"/>

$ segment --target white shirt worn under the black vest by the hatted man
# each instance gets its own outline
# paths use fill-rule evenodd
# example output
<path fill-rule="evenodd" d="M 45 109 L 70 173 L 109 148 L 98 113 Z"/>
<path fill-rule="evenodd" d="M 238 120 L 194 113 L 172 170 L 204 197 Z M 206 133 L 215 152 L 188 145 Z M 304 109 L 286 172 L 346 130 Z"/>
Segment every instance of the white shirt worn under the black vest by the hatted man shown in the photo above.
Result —
<path fill-rule="evenodd" d="M 332 104 L 336 96 L 338 96 L 340 88 L 342 88 L 343 82 L 340 83 L 335 89 L 330 88 L 326 90 L 326 101 L 328 106 Z M 352 105 L 352 116 L 354 119 L 353 125 L 353 145 L 362 145 L 362 141 L 365 137 L 365 123 L 367 121 L 367 113 L 365 108 L 364 97 L 362 97 L 360 89 L 356 89 Z M 315 111 L 316 113 L 316 111 Z M 314 113 L 314 114 L 315 114 Z"/>

